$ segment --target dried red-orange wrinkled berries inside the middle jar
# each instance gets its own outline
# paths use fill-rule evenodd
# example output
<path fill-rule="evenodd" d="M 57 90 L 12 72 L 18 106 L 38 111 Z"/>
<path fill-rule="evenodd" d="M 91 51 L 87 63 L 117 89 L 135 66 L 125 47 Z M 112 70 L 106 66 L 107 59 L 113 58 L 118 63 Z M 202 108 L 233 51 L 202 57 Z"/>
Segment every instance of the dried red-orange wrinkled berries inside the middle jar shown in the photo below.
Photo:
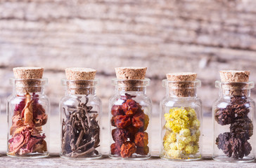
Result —
<path fill-rule="evenodd" d="M 138 155 L 148 155 L 148 127 L 149 118 L 141 105 L 134 101 L 136 96 L 125 94 L 121 96 L 124 100 L 122 105 L 114 105 L 111 108 L 113 117 L 110 123 L 113 127 L 112 137 L 115 141 L 110 146 L 112 155 L 119 155 L 122 158 L 129 158 L 134 153 Z"/>

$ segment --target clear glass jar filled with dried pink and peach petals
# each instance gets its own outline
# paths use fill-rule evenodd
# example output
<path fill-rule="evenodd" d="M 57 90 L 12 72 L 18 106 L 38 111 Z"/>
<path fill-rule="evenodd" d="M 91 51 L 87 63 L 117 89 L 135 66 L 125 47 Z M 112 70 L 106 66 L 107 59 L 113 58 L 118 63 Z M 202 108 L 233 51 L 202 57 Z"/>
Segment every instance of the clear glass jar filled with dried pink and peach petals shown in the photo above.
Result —
<path fill-rule="evenodd" d="M 44 158 L 49 155 L 50 102 L 44 94 L 47 79 L 11 79 L 8 97 L 7 155 L 15 158 Z"/>

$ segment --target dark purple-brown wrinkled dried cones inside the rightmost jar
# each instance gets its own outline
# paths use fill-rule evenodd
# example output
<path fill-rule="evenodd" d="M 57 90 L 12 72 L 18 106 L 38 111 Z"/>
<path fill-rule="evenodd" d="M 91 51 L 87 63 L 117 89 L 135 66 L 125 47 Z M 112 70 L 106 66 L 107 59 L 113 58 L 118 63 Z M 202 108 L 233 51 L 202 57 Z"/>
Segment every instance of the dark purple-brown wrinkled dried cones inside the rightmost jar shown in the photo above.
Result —
<path fill-rule="evenodd" d="M 245 96 L 231 97 L 230 105 L 217 109 L 215 120 L 219 125 L 230 126 L 230 132 L 219 134 L 216 144 L 229 158 L 243 158 L 250 154 L 252 146 L 248 142 L 253 134 L 252 120 L 248 118 L 250 104 Z"/>

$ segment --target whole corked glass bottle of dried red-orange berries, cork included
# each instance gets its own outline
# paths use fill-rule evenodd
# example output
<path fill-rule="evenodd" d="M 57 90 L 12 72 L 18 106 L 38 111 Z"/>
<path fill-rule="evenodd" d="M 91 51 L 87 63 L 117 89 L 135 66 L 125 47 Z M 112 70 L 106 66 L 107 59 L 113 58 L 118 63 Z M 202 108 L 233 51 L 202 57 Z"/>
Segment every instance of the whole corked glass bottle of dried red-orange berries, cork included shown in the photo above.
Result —
<path fill-rule="evenodd" d="M 151 157 L 151 99 L 146 95 L 150 80 L 146 67 L 119 67 L 110 99 L 110 158 L 143 160 Z"/>

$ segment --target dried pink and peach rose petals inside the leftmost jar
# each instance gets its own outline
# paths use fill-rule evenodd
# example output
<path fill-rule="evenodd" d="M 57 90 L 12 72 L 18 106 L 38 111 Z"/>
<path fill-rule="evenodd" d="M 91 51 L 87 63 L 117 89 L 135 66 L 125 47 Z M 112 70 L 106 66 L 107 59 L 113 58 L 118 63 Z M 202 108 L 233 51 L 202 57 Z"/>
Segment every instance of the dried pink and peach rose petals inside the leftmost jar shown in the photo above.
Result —
<path fill-rule="evenodd" d="M 48 116 L 39 104 L 39 96 L 25 94 L 19 104 L 15 105 L 8 140 L 8 155 L 25 155 L 27 153 L 44 153 L 47 151 L 45 134 L 42 127 L 47 123 Z"/>

